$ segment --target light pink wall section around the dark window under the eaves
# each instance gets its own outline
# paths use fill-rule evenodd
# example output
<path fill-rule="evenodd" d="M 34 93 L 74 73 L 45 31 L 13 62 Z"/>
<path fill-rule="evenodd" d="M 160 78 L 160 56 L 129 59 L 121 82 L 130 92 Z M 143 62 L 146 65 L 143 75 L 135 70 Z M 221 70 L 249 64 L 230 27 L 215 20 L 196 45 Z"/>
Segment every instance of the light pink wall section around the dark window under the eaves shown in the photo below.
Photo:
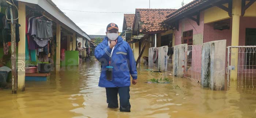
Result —
<path fill-rule="evenodd" d="M 175 30 L 175 41 L 174 41 L 175 45 L 181 44 L 182 33 L 188 30 L 193 30 L 193 35 L 204 33 L 204 12 L 200 12 L 199 26 L 195 21 L 188 18 L 180 20 L 179 31 Z"/>

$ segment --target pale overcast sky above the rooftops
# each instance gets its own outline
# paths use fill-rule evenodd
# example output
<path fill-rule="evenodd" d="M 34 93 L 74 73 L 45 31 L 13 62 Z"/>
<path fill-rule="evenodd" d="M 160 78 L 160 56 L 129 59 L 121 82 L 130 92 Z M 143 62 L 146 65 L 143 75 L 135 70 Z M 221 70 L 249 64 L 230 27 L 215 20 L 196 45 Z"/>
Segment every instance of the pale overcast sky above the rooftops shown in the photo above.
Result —
<path fill-rule="evenodd" d="M 52 0 L 71 20 L 89 35 L 105 35 L 113 22 L 123 28 L 124 14 L 135 14 L 135 8 L 149 8 L 149 0 Z M 189 3 L 192 0 L 184 0 Z M 182 0 L 150 0 L 150 8 L 180 8 Z M 78 10 L 78 11 L 68 11 Z M 79 12 L 90 11 L 90 12 Z M 94 12 L 94 13 L 93 13 Z M 129 13 L 95 13 L 129 12 Z"/>

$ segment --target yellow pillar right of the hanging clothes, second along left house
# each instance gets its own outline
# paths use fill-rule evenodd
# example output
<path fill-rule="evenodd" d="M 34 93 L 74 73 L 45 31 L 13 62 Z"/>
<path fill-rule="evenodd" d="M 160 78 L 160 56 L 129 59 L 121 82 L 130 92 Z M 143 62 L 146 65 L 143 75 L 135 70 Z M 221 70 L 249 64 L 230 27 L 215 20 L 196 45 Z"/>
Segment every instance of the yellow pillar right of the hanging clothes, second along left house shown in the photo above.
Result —
<path fill-rule="evenodd" d="M 60 24 L 56 27 L 56 72 L 60 71 Z"/>

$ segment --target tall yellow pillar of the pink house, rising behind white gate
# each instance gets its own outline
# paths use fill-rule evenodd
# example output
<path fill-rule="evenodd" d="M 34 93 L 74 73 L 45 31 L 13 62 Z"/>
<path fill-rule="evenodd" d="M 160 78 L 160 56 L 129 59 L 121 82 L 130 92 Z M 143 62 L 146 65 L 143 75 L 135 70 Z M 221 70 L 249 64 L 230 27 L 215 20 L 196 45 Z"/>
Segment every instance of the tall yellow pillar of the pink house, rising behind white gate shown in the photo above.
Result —
<path fill-rule="evenodd" d="M 233 9 L 232 9 L 232 41 L 231 46 L 238 46 L 239 42 L 239 25 L 240 25 L 240 16 L 241 16 L 241 0 L 232 0 Z M 231 70 L 230 79 L 237 80 L 237 70 L 238 70 L 238 49 L 231 50 L 231 65 L 235 66 L 235 70 Z"/>

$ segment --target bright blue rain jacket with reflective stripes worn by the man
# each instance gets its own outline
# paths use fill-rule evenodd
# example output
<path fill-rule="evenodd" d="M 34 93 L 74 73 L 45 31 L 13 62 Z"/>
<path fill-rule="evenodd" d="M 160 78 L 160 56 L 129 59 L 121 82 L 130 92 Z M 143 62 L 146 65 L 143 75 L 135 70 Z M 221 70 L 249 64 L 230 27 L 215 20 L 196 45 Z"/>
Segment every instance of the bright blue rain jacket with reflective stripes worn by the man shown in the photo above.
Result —
<path fill-rule="evenodd" d="M 111 57 L 113 66 L 113 78 L 106 79 L 106 66 L 109 65 L 112 49 L 108 46 L 108 37 L 105 37 L 95 49 L 95 57 L 101 62 L 101 76 L 99 77 L 99 87 L 126 87 L 131 85 L 132 79 L 137 79 L 136 61 L 132 49 L 123 38 L 118 36 L 117 44 L 114 47 Z"/>

